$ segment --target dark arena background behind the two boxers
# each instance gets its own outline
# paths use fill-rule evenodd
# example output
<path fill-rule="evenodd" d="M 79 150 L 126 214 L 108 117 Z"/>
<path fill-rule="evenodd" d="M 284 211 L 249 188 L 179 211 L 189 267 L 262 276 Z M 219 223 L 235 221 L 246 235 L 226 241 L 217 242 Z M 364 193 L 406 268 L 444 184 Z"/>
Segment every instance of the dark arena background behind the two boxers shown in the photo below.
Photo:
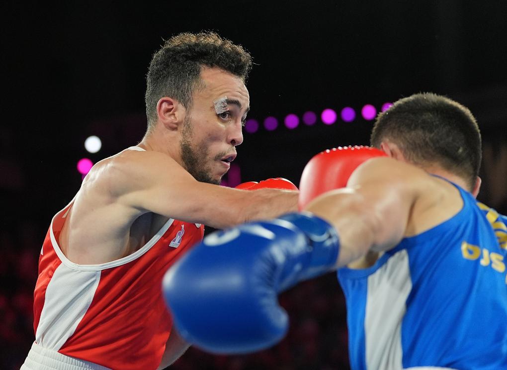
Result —
<path fill-rule="evenodd" d="M 377 109 L 420 91 L 466 105 L 484 140 L 480 199 L 507 211 L 507 3 L 458 1 L 4 2 L 0 123 L 1 368 L 19 368 L 33 340 L 37 258 L 55 212 L 81 183 L 77 161 L 94 162 L 137 144 L 146 128 L 151 55 L 182 31 L 215 30 L 253 56 L 249 118 L 279 127 L 245 133 L 243 181 L 296 184 L 315 153 L 368 144 L 372 121 L 288 130 L 283 118 L 345 106 Z M 83 143 L 102 140 L 96 154 Z M 345 307 L 325 276 L 281 296 L 287 339 L 250 356 L 192 349 L 174 368 L 347 368 Z"/>

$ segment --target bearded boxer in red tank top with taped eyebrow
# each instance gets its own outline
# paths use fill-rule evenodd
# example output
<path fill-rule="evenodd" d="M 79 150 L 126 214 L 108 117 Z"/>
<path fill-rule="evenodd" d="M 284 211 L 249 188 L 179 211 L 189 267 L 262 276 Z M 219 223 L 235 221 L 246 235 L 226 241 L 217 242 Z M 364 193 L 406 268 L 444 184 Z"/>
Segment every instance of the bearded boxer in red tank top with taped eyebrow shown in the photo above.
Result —
<path fill-rule="evenodd" d="M 154 54 L 146 135 L 98 162 L 51 222 L 23 370 L 168 366 L 188 345 L 172 327 L 161 280 L 202 239 L 203 224 L 297 209 L 296 191 L 217 186 L 243 141 L 250 66 L 241 46 L 213 32 L 182 33 Z"/>

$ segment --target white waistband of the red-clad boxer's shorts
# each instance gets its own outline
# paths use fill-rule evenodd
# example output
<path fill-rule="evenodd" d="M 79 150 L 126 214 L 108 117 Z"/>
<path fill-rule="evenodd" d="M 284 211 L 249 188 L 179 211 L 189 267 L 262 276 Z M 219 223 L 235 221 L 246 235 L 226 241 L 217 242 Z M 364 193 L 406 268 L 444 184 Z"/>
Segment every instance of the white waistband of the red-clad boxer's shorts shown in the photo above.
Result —
<path fill-rule="evenodd" d="M 65 356 L 51 351 L 33 342 L 25 362 L 20 370 L 111 370 L 109 367 L 80 360 L 79 358 Z"/>

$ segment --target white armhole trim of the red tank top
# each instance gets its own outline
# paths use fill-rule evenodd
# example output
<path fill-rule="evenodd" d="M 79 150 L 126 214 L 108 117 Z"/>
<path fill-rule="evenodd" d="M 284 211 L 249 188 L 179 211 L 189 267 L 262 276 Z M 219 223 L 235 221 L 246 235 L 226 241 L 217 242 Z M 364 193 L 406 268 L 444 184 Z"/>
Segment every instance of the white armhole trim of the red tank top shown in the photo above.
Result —
<path fill-rule="evenodd" d="M 125 150 L 145 151 L 144 149 L 142 149 L 140 147 L 129 147 L 129 148 L 125 149 Z M 79 191 L 78 191 L 78 193 L 79 193 Z M 63 208 L 62 210 L 60 210 L 59 212 L 57 212 L 56 215 L 54 215 L 53 219 L 51 220 L 50 232 L 49 232 L 49 235 L 50 235 L 50 238 L 51 238 L 51 244 L 53 245 L 53 249 L 55 250 L 58 258 L 60 258 L 60 260 L 62 261 L 62 263 L 65 266 L 67 266 L 69 268 L 72 268 L 73 270 L 80 270 L 80 271 L 101 271 L 101 270 L 105 270 L 106 268 L 117 267 L 117 266 L 120 266 L 122 264 L 131 262 L 134 259 L 142 256 L 144 253 L 148 252 L 155 245 L 155 243 L 157 243 L 160 240 L 160 238 L 162 238 L 162 236 L 164 235 L 164 233 L 169 229 L 169 227 L 171 227 L 172 223 L 174 222 L 174 219 L 172 219 L 172 218 L 168 219 L 167 222 L 160 228 L 160 230 L 158 230 L 155 233 L 155 235 L 153 236 L 153 238 L 150 239 L 150 241 L 148 243 L 144 244 L 144 246 L 142 246 L 140 249 L 138 249 L 134 253 L 129 254 L 128 256 L 125 256 L 125 257 L 120 258 L 120 259 L 116 259 L 114 261 L 105 262 L 105 263 L 99 263 L 99 264 L 78 264 L 78 263 L 74 263 L 74 262 L 70 261 L 67 257 L 65 257 L 65 255 L 61 251 L 60 246 L 58 245 L 58 243 L 56 241 L 55 234 L 53 232 L 53 222 L 54 222 L 56 216 L 58 216 L 63 210 L 65 210 L 67 207 L 69 207 L 73 203 L 74 199 L 76 199 L 76 196 L 78 196 L 78 193 L 76 193 L 76 195 L 74 196 L 74 198 L 69 202 L 69 204 L 65 208 Z"/>

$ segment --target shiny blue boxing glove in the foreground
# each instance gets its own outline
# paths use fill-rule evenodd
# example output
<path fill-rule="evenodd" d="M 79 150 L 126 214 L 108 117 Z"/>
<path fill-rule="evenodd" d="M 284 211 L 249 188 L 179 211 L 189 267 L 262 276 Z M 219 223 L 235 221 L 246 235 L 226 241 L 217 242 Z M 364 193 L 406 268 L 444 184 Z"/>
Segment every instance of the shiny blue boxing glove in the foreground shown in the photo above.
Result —
<path fill-rule="evenodd" d="M 215 231 L 165 274 L 174 324 L 209 352 L 270 347 L 288 328 L 277 293 L 330 271 L 339 245 L 335 228 L 310 213 Z"/>

